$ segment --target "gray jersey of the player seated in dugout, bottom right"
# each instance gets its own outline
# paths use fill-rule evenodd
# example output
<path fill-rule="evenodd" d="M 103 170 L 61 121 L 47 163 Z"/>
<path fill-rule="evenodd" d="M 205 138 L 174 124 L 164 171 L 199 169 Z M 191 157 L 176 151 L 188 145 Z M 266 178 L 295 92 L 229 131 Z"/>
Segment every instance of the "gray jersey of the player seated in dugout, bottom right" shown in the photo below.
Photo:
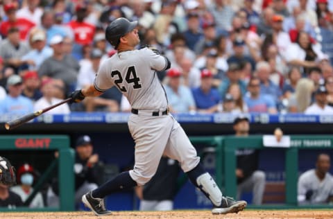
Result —
<path fill-rule="evenodd" d="M 309 201 L 305 200 L 307 191 L 312 191 Z M 300 175 L 298 179 L 298 202 L 321 204 L 327 201 L 329 196 L 333 195 L 333 177 L 326 173 L 323 181 L 320 181 L 316 175 L 316 170 L 307 170 Z"/>

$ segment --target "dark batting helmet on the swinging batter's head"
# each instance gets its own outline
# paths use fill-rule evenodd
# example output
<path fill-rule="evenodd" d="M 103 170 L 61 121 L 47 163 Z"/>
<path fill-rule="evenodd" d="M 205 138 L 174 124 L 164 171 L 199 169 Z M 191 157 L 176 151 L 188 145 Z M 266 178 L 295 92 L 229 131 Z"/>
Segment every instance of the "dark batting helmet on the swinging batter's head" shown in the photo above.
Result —
<path fill-rule="evenodd" d="M 137 26 L 137 21 L 128 21 L 124 17 L 119 17 L 111 22 L 105 30 L 105 39 L 117 49 L 120 42 L 120 37 L 126 35 Z"/>

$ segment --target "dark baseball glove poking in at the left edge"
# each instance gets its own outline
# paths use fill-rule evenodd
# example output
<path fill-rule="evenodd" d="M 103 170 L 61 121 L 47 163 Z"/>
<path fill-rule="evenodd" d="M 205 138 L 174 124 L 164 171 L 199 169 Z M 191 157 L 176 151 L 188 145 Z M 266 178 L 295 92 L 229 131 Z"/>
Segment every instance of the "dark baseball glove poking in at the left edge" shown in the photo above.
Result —
<path fill-rule="evenodd" d="M 16 184 L 15 168 L 5 157 L 0 157 L 0 184 L 7 186 Z"/>

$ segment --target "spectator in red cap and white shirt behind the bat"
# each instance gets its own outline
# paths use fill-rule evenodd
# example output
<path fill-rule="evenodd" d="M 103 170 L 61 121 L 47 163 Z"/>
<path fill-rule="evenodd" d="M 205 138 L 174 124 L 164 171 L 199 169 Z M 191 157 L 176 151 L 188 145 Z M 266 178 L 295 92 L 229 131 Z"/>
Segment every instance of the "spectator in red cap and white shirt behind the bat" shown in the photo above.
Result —
<path fill-rule="evenodd" d="M 34 111 L 60 103 L 62 99 L 55 97 L 55 89 L 56 87 L 53 84 L 52 78 L 44 78 L 44 80 L 42 80 L 41 91 L 43 96 L 34 103 Z M 45 114 L 69 114 L 70 112 L 69 105 L 64 103 L 48 112 L 45 112 Z"/>

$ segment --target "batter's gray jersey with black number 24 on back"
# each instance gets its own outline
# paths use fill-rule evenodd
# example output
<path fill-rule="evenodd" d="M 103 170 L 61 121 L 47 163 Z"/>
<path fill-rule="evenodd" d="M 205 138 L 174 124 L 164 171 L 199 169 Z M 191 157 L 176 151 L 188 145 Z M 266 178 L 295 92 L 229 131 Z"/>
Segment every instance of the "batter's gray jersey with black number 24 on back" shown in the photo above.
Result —
<path fill-rule="evenodd" d="M 166 109 L 167 96 L 156 71 L 167 68 L 167 59 L 144 48 L 115 53 L 103 62 L 94 81 L 98 91 L 116 85 L 133 109 Z"/>

